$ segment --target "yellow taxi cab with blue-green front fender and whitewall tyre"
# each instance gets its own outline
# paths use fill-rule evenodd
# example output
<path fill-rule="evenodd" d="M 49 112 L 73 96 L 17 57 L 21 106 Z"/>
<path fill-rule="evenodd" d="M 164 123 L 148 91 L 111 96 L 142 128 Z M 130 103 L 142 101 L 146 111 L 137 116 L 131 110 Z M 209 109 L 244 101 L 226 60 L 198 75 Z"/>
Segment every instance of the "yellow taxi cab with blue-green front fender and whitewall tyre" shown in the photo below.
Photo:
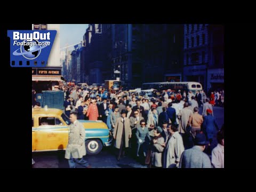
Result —
<path fill-rule="evenodd" d="M 109 129 L 102 121 L 78 120 L 84 125 L 86 154 L 99 154 L 103 146 L 111 145 Z M 71 122 L 60 109 L 32 110 L 32 151 L 65 150 Z"/>

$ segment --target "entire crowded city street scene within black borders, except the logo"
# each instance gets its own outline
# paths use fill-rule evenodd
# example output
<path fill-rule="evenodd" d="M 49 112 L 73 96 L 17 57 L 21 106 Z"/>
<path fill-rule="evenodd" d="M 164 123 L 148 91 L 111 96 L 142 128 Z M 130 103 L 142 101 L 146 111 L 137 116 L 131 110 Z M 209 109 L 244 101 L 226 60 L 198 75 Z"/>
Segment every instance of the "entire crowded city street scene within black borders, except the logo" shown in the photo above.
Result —
<path fill-rule="evenodd" d="M 33 168 L 224 168 L 222 25 L 34 28 L 57 37 L 31 68 Z"/>

